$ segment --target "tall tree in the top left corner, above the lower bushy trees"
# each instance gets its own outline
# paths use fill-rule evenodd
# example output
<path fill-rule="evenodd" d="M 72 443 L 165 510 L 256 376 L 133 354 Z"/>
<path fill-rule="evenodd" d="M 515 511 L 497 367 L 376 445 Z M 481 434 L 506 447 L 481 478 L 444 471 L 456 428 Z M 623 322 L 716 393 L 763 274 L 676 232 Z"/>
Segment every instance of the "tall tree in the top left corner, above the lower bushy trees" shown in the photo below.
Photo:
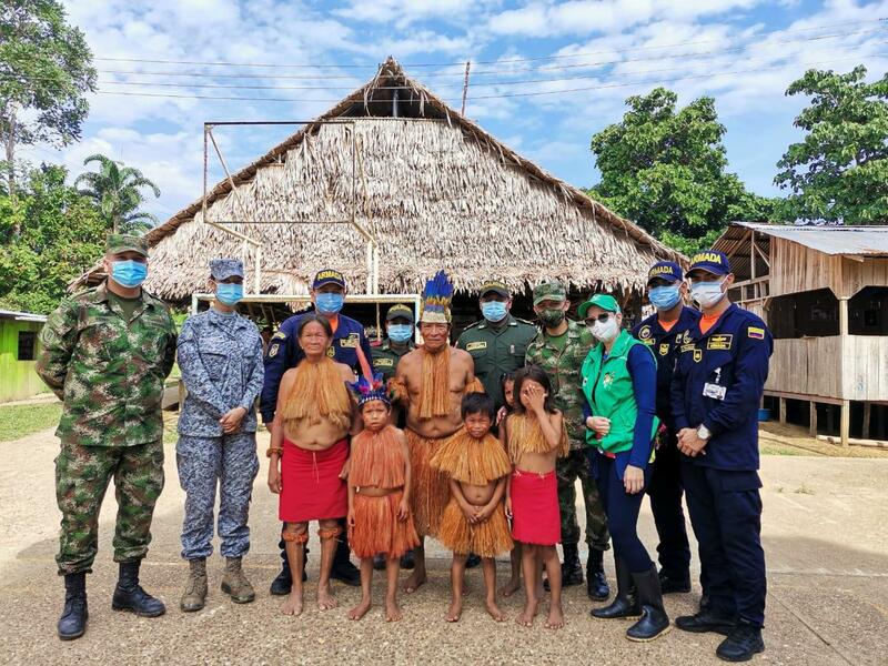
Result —
<path fill-rule="evenodd" d="M 16 147 L 80 139 L 95 90 L 92 53 L 57 0 L 0 2 L 0 140 L 8 193 L 16 195 Z"/>

